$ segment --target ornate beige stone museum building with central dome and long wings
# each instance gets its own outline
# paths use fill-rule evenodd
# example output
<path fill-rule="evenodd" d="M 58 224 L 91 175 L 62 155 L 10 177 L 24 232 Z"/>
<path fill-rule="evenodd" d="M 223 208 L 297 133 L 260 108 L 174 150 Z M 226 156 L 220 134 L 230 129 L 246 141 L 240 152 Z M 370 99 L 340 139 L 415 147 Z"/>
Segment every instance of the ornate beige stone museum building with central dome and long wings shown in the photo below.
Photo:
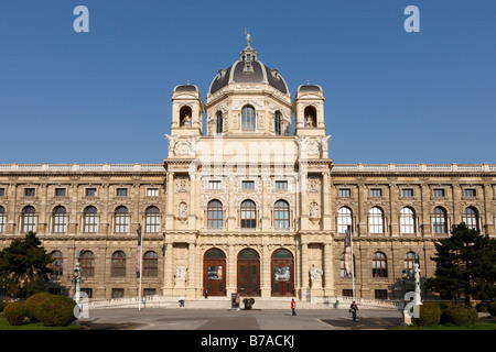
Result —
<path fill-rule="evenodd" d="M 355 295 L 397 299 L 416 253 L 432 276 L 434 242 L 465 222 L 492 237 L 496 165 L 335 164 L 324 92 L 294 98 L 250 42 L 219 69 L 206 101 L 172 92 L 161 164 L 0 165 L 0 239 L 34 231 L 54 257 L 50 289 L 90 298 L 142 295 L 352 296 L 345 231 L 353 234 Z M 139 252 L 138 252 L 139 253 Z"/>

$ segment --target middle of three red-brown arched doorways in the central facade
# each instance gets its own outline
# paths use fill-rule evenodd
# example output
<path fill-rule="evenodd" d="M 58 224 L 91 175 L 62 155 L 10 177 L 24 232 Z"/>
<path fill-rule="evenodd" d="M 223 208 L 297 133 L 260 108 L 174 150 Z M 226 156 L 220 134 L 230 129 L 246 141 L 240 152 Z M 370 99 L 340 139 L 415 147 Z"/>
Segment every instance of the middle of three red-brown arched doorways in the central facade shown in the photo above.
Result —
<path fill-rule="evenodd" d="M 255 250 L 245 249 L 238 254 L 238 293 L 260 296 L 260 256 Z"/>

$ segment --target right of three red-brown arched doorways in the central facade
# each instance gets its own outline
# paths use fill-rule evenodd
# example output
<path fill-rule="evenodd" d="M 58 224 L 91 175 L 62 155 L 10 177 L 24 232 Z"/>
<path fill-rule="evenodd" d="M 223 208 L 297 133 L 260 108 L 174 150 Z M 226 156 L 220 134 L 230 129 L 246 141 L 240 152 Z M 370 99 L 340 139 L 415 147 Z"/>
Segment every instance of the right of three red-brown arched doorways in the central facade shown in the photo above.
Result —
<path fill-rule="evenodd" d="M 272 296 L 293 296 L 294 261 L 290 251 L 280 249 L 271 260 Z"/>

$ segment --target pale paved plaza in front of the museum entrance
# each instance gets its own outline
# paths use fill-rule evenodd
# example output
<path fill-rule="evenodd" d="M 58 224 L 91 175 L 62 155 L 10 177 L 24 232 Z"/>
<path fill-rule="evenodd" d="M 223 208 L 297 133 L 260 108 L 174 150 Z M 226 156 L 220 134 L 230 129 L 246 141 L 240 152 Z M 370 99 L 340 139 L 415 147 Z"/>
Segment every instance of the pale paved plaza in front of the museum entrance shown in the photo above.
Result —
<path fill-rule="evenodd" d="M 93 309 L 80 323 L 91 330 L 385 330 L 401 324 L 397 310 L 362 309 Z"/>

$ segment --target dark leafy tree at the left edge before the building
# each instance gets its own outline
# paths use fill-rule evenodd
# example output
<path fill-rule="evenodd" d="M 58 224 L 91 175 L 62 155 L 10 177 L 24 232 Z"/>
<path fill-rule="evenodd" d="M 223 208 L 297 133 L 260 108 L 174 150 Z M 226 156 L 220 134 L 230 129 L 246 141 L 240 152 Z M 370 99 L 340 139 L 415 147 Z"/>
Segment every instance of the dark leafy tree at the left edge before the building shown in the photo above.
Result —
<path fill-rule="evenodd" d="M 47 265 L 53 262 L 34 232 L 13 240 L 0 251 L 0 285 L 9 297 L 28 297 L 43 292 L 47 282 Z"/>

